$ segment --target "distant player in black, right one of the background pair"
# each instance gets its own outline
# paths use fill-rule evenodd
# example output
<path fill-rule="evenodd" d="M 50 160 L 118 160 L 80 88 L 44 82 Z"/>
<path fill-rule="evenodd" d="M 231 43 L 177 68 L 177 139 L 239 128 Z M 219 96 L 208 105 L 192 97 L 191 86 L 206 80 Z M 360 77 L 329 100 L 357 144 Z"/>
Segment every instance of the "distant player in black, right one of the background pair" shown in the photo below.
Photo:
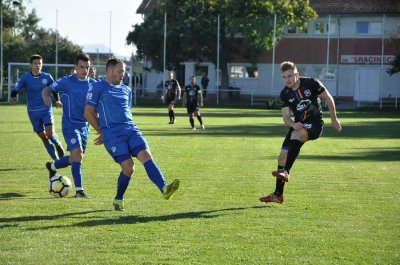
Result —
<path fill-rule="evenodd" d="M 194 127 L 193 114 L 196 115 L 200 122 L 201 129 L 204 130 L 203 119 L 199 111 L 199 106 L 203 107 L 203 95 L 200 87 L 196 84 L 196 78 L 194 76 L 189 78 L 189 85 L 185 86 L 183 93 L 183 102 L 186 103 L 186 109 L 189 114 L 189 122 L 192 126 L 192 130 L 196 130 L 196 127 Z"/>

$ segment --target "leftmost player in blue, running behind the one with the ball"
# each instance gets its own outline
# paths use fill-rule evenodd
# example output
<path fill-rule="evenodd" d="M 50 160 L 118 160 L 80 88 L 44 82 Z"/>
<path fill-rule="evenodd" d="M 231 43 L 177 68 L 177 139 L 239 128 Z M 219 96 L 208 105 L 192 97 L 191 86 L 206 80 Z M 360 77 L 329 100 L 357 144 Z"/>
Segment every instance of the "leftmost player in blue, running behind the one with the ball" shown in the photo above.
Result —
<path fill-rule="evenodd" d="M 26 105 L 28 116 L 33 131 L 39 136 L 53 160 L 62 158 L 64 150 L 54 129 L 54 117 L 51 102 L 45 105 L 42 100 L 42 89 L 53 83 L 53 77 L 49 73 L 42 72 L 42 56 L 34 54 L 30 58 L 32 71 L 24 74 L 14 86 L 11 92 L 10 104 L 17 102 L 16 96 L 26 90 Z M 53 94 L 56 104 L 61 106 L 59 95 Z"/>

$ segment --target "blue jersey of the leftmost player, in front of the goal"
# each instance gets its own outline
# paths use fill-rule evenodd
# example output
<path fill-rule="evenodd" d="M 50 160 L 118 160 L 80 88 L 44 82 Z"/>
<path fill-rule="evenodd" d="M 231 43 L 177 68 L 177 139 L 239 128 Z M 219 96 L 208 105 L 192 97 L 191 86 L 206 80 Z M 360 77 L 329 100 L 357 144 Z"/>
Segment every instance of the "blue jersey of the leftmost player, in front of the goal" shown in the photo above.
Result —
<path fill-rule="evenodd" d="M 14 86 L 14 91 L 21 92 L 26 89 L 26 105 L 28 111 L 49 110 L 51 107 L 43 103 L 42 90 L 54 82 L 53 77 L 45 72 L 34 76 L 32 72 L 26 73 Z"/>

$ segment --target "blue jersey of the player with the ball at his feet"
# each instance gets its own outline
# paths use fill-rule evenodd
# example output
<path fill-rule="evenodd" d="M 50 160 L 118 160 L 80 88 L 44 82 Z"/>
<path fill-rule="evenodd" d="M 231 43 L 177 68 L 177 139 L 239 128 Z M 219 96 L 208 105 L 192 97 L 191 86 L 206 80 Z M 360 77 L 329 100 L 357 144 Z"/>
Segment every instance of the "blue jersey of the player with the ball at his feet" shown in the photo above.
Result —
<path fill-rule="evenodd" d="M 53 92 L 63 92 L 61 102 L 63 104 L 63 126 L 64 124 L 86 124 L 84 117 L 86 94 L 96 80 L 87 77 L 79 80 L 76 75 L 64 76 L 54 82 L 49 89 Z"/>

